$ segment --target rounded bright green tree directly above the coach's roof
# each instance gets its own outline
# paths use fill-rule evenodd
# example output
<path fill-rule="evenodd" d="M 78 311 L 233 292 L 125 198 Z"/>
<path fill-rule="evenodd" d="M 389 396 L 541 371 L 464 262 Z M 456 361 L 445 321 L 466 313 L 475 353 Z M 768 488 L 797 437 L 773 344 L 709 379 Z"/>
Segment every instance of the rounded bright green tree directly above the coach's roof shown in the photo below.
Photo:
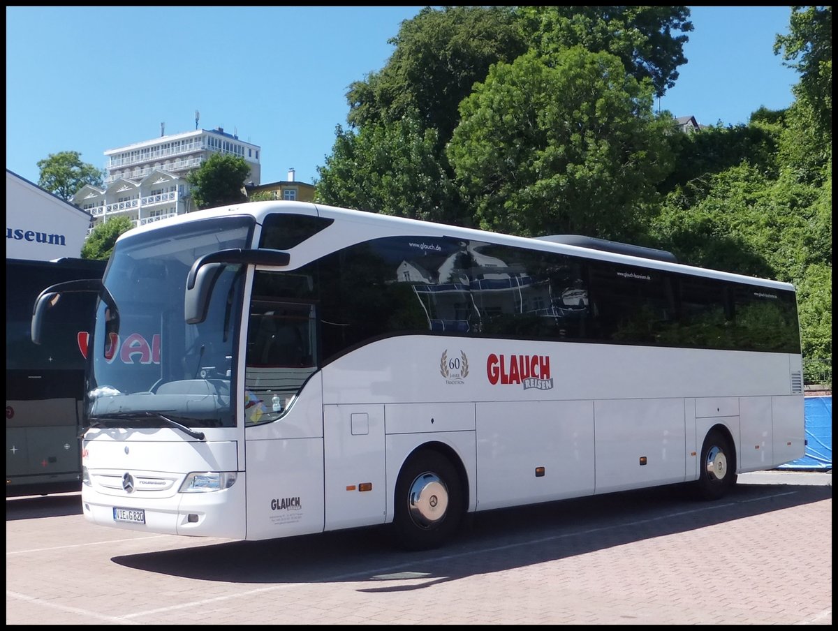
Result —
<path fill-rule="evenodd" d="M 448 146 L 480 227 L 634 235 L 672 168 L 674 121 L 654 116 L 652 94 L 613 54 L 582 47 L 494 65 Z"/>

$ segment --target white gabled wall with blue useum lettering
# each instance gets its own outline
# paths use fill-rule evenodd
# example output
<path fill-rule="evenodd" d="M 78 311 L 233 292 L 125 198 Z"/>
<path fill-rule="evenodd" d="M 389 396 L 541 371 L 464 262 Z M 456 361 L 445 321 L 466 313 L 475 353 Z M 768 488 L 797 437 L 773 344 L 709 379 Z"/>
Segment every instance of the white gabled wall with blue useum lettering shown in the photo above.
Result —
<path fill-rule="evenodd" d="M 91 215 L 6 169 L 6 258 L 81 256 Z"/>

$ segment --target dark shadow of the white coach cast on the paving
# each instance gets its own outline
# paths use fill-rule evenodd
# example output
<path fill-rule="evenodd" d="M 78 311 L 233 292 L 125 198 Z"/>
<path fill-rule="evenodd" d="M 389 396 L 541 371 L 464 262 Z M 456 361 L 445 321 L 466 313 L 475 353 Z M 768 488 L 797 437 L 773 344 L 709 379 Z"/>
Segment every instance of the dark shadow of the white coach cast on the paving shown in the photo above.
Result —
<path fill-rule="evenodd" d="M 684 489 L 674 486 L 471 515 L 455 540 L 432 551 L 399 551 L 389 529 L 373 527 L 115 556 L 112 561 L 145 572 L 204 581 L 370 582 L 360 591 L 404 591 L 831 498 L 831 486 L 740 484 L 724 499 L 707 503 L 685 499 Z"/>

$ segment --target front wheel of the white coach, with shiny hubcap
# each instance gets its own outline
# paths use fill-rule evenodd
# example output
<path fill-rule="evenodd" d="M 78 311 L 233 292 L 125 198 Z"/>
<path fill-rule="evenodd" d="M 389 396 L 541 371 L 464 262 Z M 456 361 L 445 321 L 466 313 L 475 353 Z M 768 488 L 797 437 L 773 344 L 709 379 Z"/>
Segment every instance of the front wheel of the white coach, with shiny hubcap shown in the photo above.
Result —
<path fill-rule="evenodd" d="M 428 449 L 415 453 L 396 481 L 393 531 L 406 550 L 441 546 L 463 519 L 463 489 L 452 463 Z"/>

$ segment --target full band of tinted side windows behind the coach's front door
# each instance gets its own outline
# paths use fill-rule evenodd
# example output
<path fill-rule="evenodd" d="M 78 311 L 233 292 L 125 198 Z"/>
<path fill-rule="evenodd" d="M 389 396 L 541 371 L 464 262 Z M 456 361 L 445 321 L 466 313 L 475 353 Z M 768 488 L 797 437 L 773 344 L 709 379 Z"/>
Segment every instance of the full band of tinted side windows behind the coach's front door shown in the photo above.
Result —
<path fill-rule="evenodd" d="M 318 265 L 325 361 L 411 333 L 799 349 L 792 292 L 734 301 L 717 279 L 445 237 L 368 241 Z"/>

